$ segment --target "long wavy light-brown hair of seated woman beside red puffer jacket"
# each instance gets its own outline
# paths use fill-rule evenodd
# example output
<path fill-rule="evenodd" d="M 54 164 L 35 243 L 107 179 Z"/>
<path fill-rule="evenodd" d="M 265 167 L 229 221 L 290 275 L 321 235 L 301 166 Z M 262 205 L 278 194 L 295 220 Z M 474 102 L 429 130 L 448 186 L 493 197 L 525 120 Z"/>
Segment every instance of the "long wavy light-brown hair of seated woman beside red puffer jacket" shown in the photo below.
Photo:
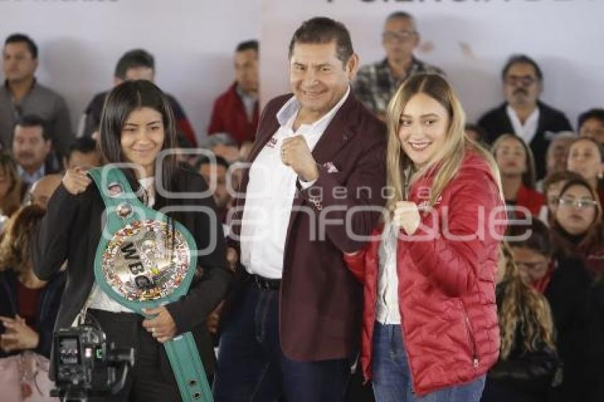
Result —
<path fill-rule="evenodd" d="M 497 311 L 500 326 L 500 358 L 505 360 L 517 343 L 516 335 L 522 335 L 522 346 L 534 352 L 546 344 L 554 345 L 554 322 L 546 298 L 524 282 L 514 263 L 509 245 L 501 245 L 500 264 L 504 271 L 505 288 Z M 519 331 L 518 331 L 519 329 Z"/>

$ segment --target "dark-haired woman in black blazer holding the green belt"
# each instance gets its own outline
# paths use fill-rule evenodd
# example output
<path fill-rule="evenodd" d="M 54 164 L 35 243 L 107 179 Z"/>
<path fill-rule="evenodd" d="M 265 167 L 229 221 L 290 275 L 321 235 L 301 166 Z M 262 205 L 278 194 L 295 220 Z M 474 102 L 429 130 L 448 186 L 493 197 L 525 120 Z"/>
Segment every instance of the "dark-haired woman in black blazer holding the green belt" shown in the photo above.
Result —
<path fill-rule="evenodd" d="M 80 313 L 86 312 L 87 320 L 107 334 L 107 342 L 136 350 L 126 386 L 117 395 L 107 396 L 107 401 L 178 401 L 182 389 L 179 393 L 180 383 L 177 385 L 166 356 L 168 347 L 165 350 L 163 344 L 182 339 L 180 335 L 191 332 L 203 369 L 207 375 L 212 374 L 214 354 L 205 319 L 224 297 L 230 280 L 222 226 L 212 214 L 215 205 L 205 181 L 200 175 L 180 168 L 176 155 L 169 152 L 176 146 L 173 113 L 163 92 L 153 83 L 126 81 L 114 87 L 105 101 L 100 132 L 105 161 L 119 168 L 116 170 L 127 183 L 125 186 L 107 183 L 101 190 L 97 179 L 95 186 L 87 171 L 68 170 L 62 185 L 48 202 L 48 214 L 38 232 L 34 252 L 36 274 L 48 278 L 67 261 L 67 283 L 55 329 L 70 327 Z M 167 151 L 161 152 L 164 150 Z M 172 303 L 142 309 L 145 317 L 126 308 L 124 303 L 117 303 L 111 292 L 105 291 L 107 288 L 95 279 L 97 246 L 102 245 L 106 235 L 103 231 L 107 229 L 104 227 L 107 217 L 119 222 L 119 217 L 125 219 L 132 212 L 128 208 L 112 212 L 105 207 L 107 200 L 124 193 L 128 195 L 129 188 L 136 195 L 133 195 L 134 202 L 128 204 L 130 208 L 134 205 L 136 210 L 138 203 L 147 211 L 150 208 L 162 211 L 168 222 L 176 222 L 184 227 L 184 232 L 190 233 L 191 244 L 196 248 L 190 253 L 198 251 L 197 266 L 185 265 L 189 273 L 198 271 L 188 291 Z M 116 215 L 112 217 L 112 213 Z M 175 233 L 175 223 L 171 225 L 172 232 L 166 229 L 168 234 Z M 128 230 L 127 227 L 124 230 Z M 146 235 L 156 232 L 157 229 L 155 232 L 149 229 Z M 178 259 L 173 254 L 175 239 L 174 235 L 164 239 L 162 250 L 168 254 L 165 261 L 149 258 L 162 247 L 152 237 L 117 249 L 123 254 L 121 260 L 111 261 L 121 261 L 122 266 L 126 266 L 124 259 L 140 254 L 141 261 L 127 265 L 133 277 L 125 282 L 132 286 L 132 293 L 140 290 L 137 301 L 153 300 L 153 292 L 158 292 L 156 283 L 180 283 L 180 277 L 176 280 L 168 271 Z M 183 249 L 183 243 L 177 245 L 178 250 Z M 109 251 L 108 246 L 107 253 Z M 195 259 L 191 257 L 187 261 L 192 264 Z M 117 262 L 115 265 L 119 268 Z"/>

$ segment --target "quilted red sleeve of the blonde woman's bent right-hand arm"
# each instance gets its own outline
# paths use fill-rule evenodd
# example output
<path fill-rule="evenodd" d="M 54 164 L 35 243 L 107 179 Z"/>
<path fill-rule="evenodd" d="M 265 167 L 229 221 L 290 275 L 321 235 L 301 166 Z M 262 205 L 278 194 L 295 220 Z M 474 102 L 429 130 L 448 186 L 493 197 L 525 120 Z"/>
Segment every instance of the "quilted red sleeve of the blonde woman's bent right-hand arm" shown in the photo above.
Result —
<path fill-rule="evenodd" d="M 460 170 L 446 192 L 448 205 L 441 213 L 426 214 L 419 229 L 402 239 L 416 268 L 444 293 L 470 293 L 480 270 L 492 259 L 505 230 L 505 211 L 497 186 L 486 172 Z M 446 197 L 443 197 L 443 199 Z"/>

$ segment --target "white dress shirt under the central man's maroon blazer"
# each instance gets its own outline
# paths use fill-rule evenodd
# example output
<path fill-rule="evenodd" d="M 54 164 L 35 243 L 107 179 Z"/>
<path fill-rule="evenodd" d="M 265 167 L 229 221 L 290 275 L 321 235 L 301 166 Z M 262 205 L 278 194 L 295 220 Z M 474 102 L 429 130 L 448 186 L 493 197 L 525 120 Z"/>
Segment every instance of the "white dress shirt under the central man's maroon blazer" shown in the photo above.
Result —
<path fill-rule="evenodd" d="M 285 138 L 301 135 L 313 151 L 348 94 L 350 87 L 328 113 L 313 124 L 302 124 L 295 132 L 292 126 L 300 109 L 296 97 L 291 97 L 277 112 L 281 126 L 249 168 L 239 241 L 241 262 L 249 273 L 270 279 L 279 279 L 283 274 L 285 241 L 298 175 L 281 162 L 281 144 Z"/>

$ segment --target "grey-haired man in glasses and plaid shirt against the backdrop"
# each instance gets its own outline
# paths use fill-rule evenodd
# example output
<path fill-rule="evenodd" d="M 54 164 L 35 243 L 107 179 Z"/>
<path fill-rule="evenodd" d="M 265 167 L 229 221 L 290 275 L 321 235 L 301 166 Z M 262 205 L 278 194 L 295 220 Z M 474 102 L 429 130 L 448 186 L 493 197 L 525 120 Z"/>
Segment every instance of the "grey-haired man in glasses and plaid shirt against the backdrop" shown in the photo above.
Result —
<path fill-rule="evenodd" d="M 419 43 L 415 18 L 409 13 L 392 13 L 384 24 L 382 45 L 386 58 L 378 63 L 365 65 L 357 73 L 352 91 L 367 109 L 385 121 L 390 98 L 401 82 L 419 72 L 442 71 L 414 57 L 413 51 Z"/>

